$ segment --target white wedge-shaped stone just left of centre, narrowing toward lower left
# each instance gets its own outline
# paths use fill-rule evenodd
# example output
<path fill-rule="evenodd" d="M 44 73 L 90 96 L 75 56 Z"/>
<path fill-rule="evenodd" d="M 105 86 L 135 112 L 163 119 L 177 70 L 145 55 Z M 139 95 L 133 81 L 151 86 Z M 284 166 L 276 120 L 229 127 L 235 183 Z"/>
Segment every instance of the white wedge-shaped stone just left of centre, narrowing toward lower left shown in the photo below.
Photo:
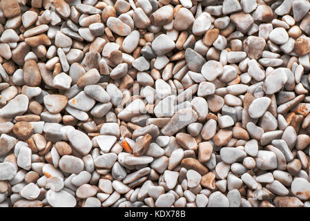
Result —
<path fill-rule="evenodd" d="M 117 117 L 126 122 L 130 121 L 131 118 L 141 115 L 145 111 L 145 104 L 141 99 L 135 99 L 126 108 L 121 111 Z"/>

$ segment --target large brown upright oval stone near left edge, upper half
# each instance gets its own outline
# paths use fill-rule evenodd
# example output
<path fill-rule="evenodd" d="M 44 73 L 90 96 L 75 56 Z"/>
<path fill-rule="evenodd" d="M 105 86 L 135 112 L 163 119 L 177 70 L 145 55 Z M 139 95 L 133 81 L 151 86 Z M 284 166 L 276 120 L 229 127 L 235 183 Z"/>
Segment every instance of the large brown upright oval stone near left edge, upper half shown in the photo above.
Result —
<path fill-rule="evenodd" d="M 37 62 L 27 60 L 23 65 L 23 81 L 30 87 L 39 86 L 41 84 L 41 74 Z"/>

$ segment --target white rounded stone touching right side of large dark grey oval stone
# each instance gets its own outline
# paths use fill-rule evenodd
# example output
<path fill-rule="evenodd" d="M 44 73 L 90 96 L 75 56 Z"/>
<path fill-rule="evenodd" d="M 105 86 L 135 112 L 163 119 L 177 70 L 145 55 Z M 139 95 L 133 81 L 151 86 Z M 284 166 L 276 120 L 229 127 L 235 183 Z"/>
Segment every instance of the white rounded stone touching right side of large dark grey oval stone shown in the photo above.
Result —
<path fill-rule="evenodd" d="M 206 63 L 202 66 L 202 75 L 208 81 L 214 81 L 217 77 L 222 75 L 224 69 L 220 62 L 218 61 L 206 61 Z"/>

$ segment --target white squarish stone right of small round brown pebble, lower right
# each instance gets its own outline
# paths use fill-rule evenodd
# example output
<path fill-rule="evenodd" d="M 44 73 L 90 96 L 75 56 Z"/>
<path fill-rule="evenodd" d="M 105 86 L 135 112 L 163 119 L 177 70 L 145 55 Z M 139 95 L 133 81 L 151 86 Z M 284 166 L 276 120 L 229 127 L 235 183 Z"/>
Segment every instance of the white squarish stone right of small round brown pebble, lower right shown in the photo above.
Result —
<path fill-rule="evenodd" d="M 276 169 L 278 166 L 277 157 L 271 151 L 258 151 L 255 157 L 256 166 L 261 170 Z"/>

